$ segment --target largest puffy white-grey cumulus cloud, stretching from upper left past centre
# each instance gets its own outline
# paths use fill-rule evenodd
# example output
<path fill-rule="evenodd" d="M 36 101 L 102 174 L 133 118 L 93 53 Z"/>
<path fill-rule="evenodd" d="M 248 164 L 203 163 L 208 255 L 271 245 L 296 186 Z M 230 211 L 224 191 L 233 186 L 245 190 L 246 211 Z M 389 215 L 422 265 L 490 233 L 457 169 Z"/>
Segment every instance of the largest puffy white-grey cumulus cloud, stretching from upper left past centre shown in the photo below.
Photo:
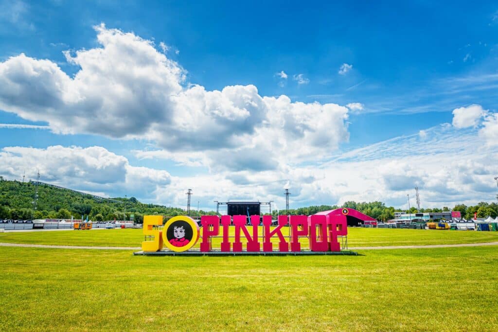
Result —
<path fill-rule="evenodd" d="M 253 85 L 208 91 L 186 82 L 186 71 L 153 41 L 104 24 L 95 30 L 99 47 L 64 52 L 79 67 L 72 77 L 51 60 L 25 54 L 0 62 L 0 109 L 45 121 L 55 133 L 146 139 L 168 153 L 203 153 L 204 164 L 214 164 L 219 149 L 255 156 L 271 146 L 273 154 L 311 155 L 296 152 L 298 146 L 325 156 L 348 140 L 345 107 L 263 97 Z M 159 47 L 166 51 L 166 44 Z M 309 82 L 302 74 L 294 79 Z"/>

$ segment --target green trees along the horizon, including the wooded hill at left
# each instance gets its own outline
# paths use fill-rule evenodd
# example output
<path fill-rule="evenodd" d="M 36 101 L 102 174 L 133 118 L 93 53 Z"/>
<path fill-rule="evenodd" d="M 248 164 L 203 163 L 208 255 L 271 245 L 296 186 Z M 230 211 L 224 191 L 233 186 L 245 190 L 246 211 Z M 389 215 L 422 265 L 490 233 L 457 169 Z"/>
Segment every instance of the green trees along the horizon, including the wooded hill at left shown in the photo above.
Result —
<path fill-rule="evenodd" d="M 93 221 L 108 220 L 130 220 L 131 215 L 135 222 L 142 222 L 144 215 L 180 216 L 187 212 L 180 208 L 166 207 L 157 204 L 141 203 L 136 198 L 113 198 L 122 203 L 97 200 L 92 195 L 85 195 L 68 189 L 54 188 L 51 186 L 38 185 L 37 208 L 33 211 L 33 199 L 35 185 L 30 182 L 7 181 L 0 176 L 0 219 L 86 219 Z M 353 202 L 349 201 L 342 206 L 337 205 L 315 205 L 298 209 L 290 209 L 290 215 L 313 215 L 317 212 L 334 210 L 337 208 L 350 208 L 371 216 L 378 221 L 394 219 L 394 212 L 406 212 L 405 210 L 387 207 L 382 202 Z M 476 206 L 458 204 L 450 210 L 449 207 L 425 208 L 417 211 L 411 207 L 410 213 L 460 211 L 465 219 L 498 215 L 496 203 L 480 202 Z M 272 216 L 285 214 L 285 210 L 273 210 Z M 199 215 L 215 215 L 214 211 L 199 211 Z M 191 211 L 191 216 L 196 216 L 197 211 Z"/>

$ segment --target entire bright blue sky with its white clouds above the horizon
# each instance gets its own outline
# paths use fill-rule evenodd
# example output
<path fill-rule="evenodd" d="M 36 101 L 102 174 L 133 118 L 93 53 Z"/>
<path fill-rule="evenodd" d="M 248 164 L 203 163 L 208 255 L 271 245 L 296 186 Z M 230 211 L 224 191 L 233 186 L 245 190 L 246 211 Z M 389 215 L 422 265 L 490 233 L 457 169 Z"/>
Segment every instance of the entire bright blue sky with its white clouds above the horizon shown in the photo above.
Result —
<path fill-rule="evenodd" d="M 402 206 L 411 182 L 427 206 L 493 200 L 496 3 L 322 2 L 0 2 L 0 173 L 38 167 L 63 186 L 179 206 L 192 186 L 205 208 L 239 198 L 281 205 L 287 186 L 295 206 Z M 128 73 L 113 71 L 120 63 Z M 233 86 L 246 88 L 211 94 Z M 106 167 L 123 174 L 88 178 Z M 388 178 L 392 170 L 400 174 Z"/>

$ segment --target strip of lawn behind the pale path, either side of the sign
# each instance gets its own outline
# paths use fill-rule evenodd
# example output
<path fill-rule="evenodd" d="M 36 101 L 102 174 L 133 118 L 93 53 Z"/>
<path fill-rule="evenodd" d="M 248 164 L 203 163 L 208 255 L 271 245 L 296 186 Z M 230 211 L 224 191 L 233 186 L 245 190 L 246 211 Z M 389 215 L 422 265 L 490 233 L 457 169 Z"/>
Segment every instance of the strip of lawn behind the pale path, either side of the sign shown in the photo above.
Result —
<path fill-rule="evenodd" d="M 285 228 L 284 233 L 288 230 Z M 349 228 L 348 243 L 351 247 L 454 244 L 498 241 L 498 232 L 464 230 L 423 230 L 392 228 Z M 0 242 L 59 245 L 95 245 L 139 247 L 143 241 L 141 229 L 99 229 L 67 231 L 34 231 L 0 233 Z M 220 239 L 213 240 L 219 247 Z M 276 238 L 275 240 L 276 241 Z M 302 240 L 307 247 L 307 240 Z M 199 244 L 197 244 L 199 246 Z M 276 246 L 274 246 L 276 248 Z"/>

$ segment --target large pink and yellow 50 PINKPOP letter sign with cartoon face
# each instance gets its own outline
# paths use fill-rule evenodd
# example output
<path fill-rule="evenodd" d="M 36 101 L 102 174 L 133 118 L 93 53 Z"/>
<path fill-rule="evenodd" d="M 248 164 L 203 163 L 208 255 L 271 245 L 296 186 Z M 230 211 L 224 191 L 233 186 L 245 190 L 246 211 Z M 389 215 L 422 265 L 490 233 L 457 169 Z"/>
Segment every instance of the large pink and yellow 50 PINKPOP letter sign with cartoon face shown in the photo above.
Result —
<path fill-rule="evenodd" d="M 142 250 L 155 252 L 166 247 L 174 252 L 184 252 L 195 246 L 200 238 L 201 252 L 242 252 L 243 249 L 247 252 L 273 252 L 273 237 L 278 238 L 276 251 L 297 252 L 301 251 L 299 238 L 304 237 L 308 239 L 311 251 L 341 251 L 338 237 L 348 234 L 347 215 L 348 209 L 337 216 L 279 216 L 273 229 L 271 216 L 263 216 L 261 234 L 261 218 L 257 215 L 250 216 L 250 225 L 247 225 L 247 216 L 202 216 L 202 235 L 199 225 L 190 217 L 173 217 L 162 226 L 162 216 L 144 216 L 143 234 L 149 240 L 142 242 Z M 231 226 L 234 235 L 230 235 Z M 289 227 L 287 236 L 282 234 L 285 226 Z M 219 248 L 213 248 L 211 241 L 216 237 L 222 239 Z"/>

